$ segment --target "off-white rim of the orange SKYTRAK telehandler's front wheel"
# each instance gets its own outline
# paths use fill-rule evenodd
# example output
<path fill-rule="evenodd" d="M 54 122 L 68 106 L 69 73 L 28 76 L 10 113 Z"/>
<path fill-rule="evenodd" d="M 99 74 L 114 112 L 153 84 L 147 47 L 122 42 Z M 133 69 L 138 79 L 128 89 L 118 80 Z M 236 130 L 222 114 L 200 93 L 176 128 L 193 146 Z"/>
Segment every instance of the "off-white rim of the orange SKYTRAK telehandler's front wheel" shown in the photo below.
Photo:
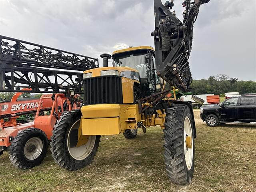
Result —
<path fill-rule="evenodd" d="M 30 138 L 24 146 L 24 155 L 28 160 L 35 160 L 43 150 L 43 142 L 38 137 Z"/>

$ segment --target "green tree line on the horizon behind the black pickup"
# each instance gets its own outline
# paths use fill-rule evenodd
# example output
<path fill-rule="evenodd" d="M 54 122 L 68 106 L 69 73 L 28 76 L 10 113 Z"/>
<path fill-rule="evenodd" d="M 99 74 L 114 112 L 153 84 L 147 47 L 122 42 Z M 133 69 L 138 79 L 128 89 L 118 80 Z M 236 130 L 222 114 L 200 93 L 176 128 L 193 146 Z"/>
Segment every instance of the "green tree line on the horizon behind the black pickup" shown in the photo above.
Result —
<path fill-rule="evenodd" d="M 256 93 L 255 81 L 238 81 L 238 78 L 229 78 L 225 74 L 210 76 L 208 79 L 193 80 L 192 94 L 223 94 L 225 92 Z"/>

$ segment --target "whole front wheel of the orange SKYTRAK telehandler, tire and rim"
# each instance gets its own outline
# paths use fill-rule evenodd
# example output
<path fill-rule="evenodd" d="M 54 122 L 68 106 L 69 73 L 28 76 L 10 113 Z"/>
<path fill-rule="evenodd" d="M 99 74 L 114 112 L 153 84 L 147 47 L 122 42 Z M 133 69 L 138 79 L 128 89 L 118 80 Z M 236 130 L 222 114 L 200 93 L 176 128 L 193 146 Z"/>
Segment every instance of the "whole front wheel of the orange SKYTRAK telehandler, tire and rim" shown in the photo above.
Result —
<path fill-rule="evenodd" d="M 20 169 L 29 169 L 41 164 L 46 156 L 48 139 L 36 128 L 24 129 L 12 141 L 9 151 L 11 163 Z"/>

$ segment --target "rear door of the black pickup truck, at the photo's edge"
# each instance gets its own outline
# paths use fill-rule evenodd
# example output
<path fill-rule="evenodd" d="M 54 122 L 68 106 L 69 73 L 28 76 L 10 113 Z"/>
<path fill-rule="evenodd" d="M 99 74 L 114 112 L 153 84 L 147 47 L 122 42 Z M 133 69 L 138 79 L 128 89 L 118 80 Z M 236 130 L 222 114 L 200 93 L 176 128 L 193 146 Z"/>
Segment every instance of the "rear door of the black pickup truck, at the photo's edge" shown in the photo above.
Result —
<path fill-rule="evenodd" d="M 256 121 L 256 97 L 240 97 L 238 99 L 238 119 L 240 121 Z"/>

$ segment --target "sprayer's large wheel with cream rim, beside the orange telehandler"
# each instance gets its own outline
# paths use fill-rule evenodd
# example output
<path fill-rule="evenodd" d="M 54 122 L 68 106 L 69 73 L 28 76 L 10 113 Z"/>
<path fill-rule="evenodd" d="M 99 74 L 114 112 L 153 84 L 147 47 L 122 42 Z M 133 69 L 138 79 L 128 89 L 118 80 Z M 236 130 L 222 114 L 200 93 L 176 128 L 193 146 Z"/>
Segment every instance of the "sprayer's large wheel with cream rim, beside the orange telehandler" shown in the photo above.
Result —
<path fill-rule="evenodd" d="M 91 164 L 100 143 L 100 136 L 85 136 L 85 142 L 77 146 L 81 116 L 80 110 L 66 112 L 52 132 L 52 157 L 67 170 L 78 170 Z"/>

